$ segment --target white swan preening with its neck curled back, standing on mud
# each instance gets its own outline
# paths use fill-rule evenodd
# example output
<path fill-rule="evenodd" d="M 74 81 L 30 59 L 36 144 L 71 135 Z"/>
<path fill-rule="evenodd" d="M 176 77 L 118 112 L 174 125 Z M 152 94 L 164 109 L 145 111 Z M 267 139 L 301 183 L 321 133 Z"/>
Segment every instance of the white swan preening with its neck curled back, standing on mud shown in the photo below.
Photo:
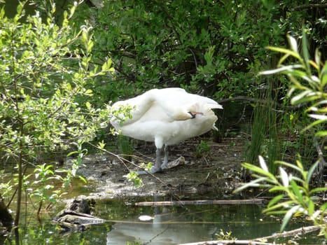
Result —
<path fill-rule="evenodd" d="M 211 129 L 217 130 L 214 125 L 217 117 L 211 109 L 223 109 L 213 99 L 189 94 L 178 87 L 148 90 L 132 99 L 116 102 L 111 109 L 118 110 L 120 106 L 128 105 L 132 106 L 132 118 L 125 118 L 122 122 L 113 117 L 111 124 L 125 136 L 155 143 L 156 159 L 151 173 L 167 167 L 167 146 Z M 162 148 L 165 148 L 163 163 Z"/>

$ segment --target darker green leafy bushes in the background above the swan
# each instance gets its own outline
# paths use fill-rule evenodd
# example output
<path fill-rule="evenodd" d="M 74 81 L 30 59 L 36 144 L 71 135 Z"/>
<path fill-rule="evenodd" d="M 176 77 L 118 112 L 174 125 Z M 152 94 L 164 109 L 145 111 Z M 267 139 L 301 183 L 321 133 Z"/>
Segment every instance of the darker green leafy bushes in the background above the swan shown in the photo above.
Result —
<path fill-rule="evenodd" d="M 85 8 L 81 15 L 98 27 L 93 54 L 109 54 L 116 68 L 116 81 L 99 83 L 97 91 L 111 99 L 165 86 L 216 98 L 251 93 L 252 77 L 267 60 L 262 47 L 284 41 L 279 11 L 279 3 L 254 0 L 105 0 Z"/>

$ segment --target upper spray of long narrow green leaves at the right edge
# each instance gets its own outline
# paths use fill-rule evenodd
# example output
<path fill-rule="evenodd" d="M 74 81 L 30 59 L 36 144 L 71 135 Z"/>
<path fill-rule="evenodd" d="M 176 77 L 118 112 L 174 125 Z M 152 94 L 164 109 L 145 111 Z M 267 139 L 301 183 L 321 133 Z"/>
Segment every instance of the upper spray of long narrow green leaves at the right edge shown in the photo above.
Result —
<path fill-rule="evenodd" d="M 272 71 L 264 71 L 261 74 L 269 75 L 274 73 L 284 73 L 291 80 L 291 89 L 288 96 L 291 98 L 291 103 L 294 105 L 308 104 L 306 110 L 310 118 L 314 122 L 307 125 L 304 130 L 318 127 L 327 122 L 327 92 L 325 90 L 327 84 L 327 63 L 321 62 L 321 53 L 318 50 L 315 52 L 314 61 L 309 59 L 307 50 L 307 38 L 305 29 L 302 38 L 303 56 L 298 51 L 298 43 L 292 36 L 288 36 L 291 50 L 286 48 L 268 47 L 270 50 L 281 52 L 283 57 L 279 60 L 279 68 Z M 293 57 L 293 64 L 284 65 L 286 59 Z M 295 94 L 294 94 L 295 93 Z M 326 137 L 326 130 L 316 132 L 316 137 Z"/>

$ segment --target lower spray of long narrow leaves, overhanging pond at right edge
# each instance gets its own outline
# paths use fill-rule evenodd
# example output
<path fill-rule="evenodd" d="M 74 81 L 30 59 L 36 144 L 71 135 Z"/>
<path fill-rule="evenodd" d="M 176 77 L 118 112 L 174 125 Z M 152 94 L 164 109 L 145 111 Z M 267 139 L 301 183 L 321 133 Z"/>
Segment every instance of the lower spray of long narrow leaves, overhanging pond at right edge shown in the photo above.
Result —
<path fill-rule="evenodd" d="M 259 162 L 260 167 L 249 163 L 243 164 L 243 167 L 253 172 L 253 177 L 256 179 L 237 188 L 236 192 L 249 187 L 265 187 L 270 193 L 281 193 L 275 195 L 263 211 L 267 214 L 284 214 L 281 231 L 284 230 L 293 216 L 302 215 L 308 216 L 316 225 L 323 225 L 321 230 L 326 235 L 327 227 L 324 217 L 327 215 L 327 203 L 317 207 L 316 195 L 326 191 L 327 188 L 312 189 L 309 186 L 319 162 L 316 162 L 309 171 L 306 171 L 300 160 L 296 161 L 296 165 L 277 161 L 275 163 L 282 166 L 279 167 L 279 176 L 274 176 L 268 170 L 263 157 L 259 156 Z M 288 174 L 288 172 L 292 172 L 292 174 Z"/>

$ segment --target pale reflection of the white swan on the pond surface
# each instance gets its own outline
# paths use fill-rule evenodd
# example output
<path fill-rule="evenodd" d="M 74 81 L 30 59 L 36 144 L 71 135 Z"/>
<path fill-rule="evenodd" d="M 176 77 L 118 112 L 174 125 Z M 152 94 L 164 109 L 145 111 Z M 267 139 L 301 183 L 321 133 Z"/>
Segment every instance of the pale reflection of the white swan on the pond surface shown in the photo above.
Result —
<path fill-rule="evenodd" d="M 153 221 L 116 223 L 107 235 L 107 244 L 127 244 L 140 241 L 141 244 L 179 244 L 211 239 L 216 232 L 214 223 L 190 220 L 186 214 L 171 212 L 167 208 L 155 209 Z"/>

